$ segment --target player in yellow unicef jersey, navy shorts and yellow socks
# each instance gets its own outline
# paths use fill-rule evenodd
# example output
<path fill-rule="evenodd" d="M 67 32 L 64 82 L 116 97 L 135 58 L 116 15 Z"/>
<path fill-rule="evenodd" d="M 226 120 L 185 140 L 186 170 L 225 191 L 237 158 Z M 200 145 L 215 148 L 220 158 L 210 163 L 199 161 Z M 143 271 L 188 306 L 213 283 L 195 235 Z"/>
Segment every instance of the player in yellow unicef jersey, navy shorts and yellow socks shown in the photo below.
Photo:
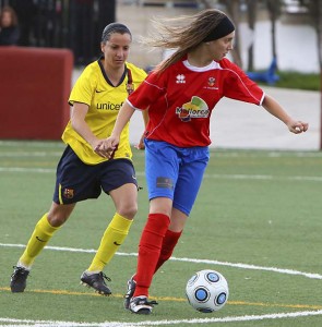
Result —
<path fill-rule="evenodd" d="M 103 295 L 111 294 L 103 272 L 129 233 L 138 210 L 138 183 L 131 161 L 129 125 L 124 129 L 112 158 L 99 150 L 112 131 L 123 101 L 146 77 L 127 62 L 132 41 L 129 28 L 120 23 L 107 25 L 102 35 L 103 56 L 88 64 L 76 81 L 69 104 L 71 119 L 62 134 L 67 148 L 57 167 L 51 207 L 35 230 L 11 276 L 11 291 L 23 292 L 36 256 L 53 233 L 67 221 L 80 201 L 97 198 L 102 190 L 116 208 L 99 247 L 81 282 Z"/>

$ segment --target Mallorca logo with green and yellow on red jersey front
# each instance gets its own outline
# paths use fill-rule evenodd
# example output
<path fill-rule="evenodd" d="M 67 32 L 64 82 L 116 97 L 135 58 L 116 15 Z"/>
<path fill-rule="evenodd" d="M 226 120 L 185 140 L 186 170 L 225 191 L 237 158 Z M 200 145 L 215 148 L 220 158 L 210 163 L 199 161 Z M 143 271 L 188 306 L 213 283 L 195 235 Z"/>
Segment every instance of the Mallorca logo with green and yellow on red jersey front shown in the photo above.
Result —
<path fill-rule="evenodd" d="M 178 114 L 181 121 L 188 122 L 192 118 L 207 118 L 210 110 L 207 104 L 202 98 L 193 96 L 190 102 L 176 108 L 176 114 Z"/>

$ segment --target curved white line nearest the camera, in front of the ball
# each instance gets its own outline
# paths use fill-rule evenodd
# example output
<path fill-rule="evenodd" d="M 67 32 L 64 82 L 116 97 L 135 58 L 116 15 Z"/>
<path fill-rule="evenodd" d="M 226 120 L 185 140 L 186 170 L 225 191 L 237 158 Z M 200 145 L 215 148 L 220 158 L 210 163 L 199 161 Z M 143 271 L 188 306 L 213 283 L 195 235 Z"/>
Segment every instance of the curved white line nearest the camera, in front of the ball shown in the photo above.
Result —
<path fill-rule="evenodd" d="M 10 319 L 0 318 L 0 322 L 8 323 L 0 327 L 136 327 L 136 326 L 174 326 L 174 325 L 202 325 L 202 324 L 220 324 L 220 323 L 239 323 L 239 322 L 258 322 L 269 319 L 285 319 L 322 315 L 322 310 L 319 311 L 300 311 L 291 313 L 276 313 L 266 315 L 247 315 L 247 316 L 228 316 L 223 318 L 200 318 L 200 319 L 178 319 L 178 320 L 146 320 L 140 323 L 76 323 L 76 322 L 58 322 L 58 320 L 31 320 L 31 319 Z"/>

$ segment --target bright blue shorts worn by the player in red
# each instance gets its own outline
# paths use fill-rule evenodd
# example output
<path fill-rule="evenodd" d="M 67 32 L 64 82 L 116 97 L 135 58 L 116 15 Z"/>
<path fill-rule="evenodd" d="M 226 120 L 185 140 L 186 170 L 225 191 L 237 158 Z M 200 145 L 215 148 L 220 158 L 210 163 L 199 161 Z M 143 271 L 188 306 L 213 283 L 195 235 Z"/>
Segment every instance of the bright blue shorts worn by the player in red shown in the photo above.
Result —
<path fill-rule="evenodd" d="M 168 197 L 189 216 L 210 160 L 208 147 L 181 148 L 145 140 L 145 171 L 148 198 Z"/>

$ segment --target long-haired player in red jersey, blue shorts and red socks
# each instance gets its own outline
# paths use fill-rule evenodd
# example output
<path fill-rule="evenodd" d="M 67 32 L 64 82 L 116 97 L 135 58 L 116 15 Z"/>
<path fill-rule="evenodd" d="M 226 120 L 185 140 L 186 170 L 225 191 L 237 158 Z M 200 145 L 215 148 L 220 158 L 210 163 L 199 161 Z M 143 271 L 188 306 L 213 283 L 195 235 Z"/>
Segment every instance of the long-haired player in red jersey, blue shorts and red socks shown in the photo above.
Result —
<path fill-rule="evenodd" d="M 100 146 L 108 154 L 133 112 L 148 110 L 144 142 L 150 214 L 124 303 L 136 314 L 152 312 L 155 301 L 148 301 L 148 288 L 153 275 L 171 256 L 196 198 L 210 158 L 210 118 L 220 98 L 262 106 L 291 133 L 308 130 L 308 123 L 289 117 L 225 58 L 235 36 L 225 13 L 211 9 L 156 23 L 158 35 L 146 39 L 147 44 L 177 50 L 129 96 L 111 136 Z"/>

